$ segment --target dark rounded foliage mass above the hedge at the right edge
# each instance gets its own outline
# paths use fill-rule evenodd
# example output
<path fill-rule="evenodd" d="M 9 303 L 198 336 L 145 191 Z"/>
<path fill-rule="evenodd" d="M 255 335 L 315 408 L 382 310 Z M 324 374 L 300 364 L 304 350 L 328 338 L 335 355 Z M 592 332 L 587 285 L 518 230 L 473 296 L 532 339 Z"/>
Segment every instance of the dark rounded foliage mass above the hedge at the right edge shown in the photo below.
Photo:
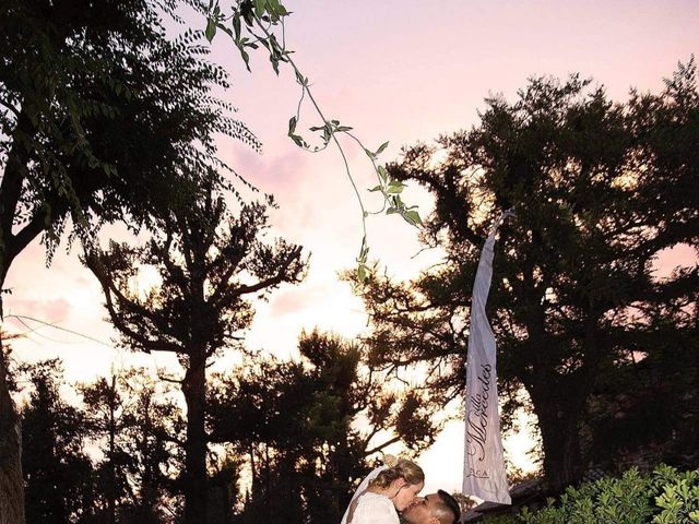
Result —
<path fill-rule="evenodd" d="M 696 318 L 690 322 L 692 327 L 657 330 L 648 355 L 637 353 L 602 371 L 608 376 L 590 398 L 582 430 L 595 467 L 621 473 L 629 464 L 699 466 Z"/>

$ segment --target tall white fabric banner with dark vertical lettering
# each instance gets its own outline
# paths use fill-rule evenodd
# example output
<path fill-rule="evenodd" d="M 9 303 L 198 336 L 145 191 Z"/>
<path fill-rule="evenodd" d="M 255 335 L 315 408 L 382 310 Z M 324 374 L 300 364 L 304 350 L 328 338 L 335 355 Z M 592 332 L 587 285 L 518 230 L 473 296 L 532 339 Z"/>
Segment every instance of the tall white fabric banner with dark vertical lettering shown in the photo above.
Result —
<path fill-rule="evenodd" d="M 496 344 L 485 315 L 493 278 L 495 234 L 502 221 L 513 214 L 506 211 L 485 241 L 471 298 L 469 355 L 466 357 L 466 415 L 463 463 L 463 492 L 489 502 L 512 503 L 507 488 L 500 418 Z"/>

